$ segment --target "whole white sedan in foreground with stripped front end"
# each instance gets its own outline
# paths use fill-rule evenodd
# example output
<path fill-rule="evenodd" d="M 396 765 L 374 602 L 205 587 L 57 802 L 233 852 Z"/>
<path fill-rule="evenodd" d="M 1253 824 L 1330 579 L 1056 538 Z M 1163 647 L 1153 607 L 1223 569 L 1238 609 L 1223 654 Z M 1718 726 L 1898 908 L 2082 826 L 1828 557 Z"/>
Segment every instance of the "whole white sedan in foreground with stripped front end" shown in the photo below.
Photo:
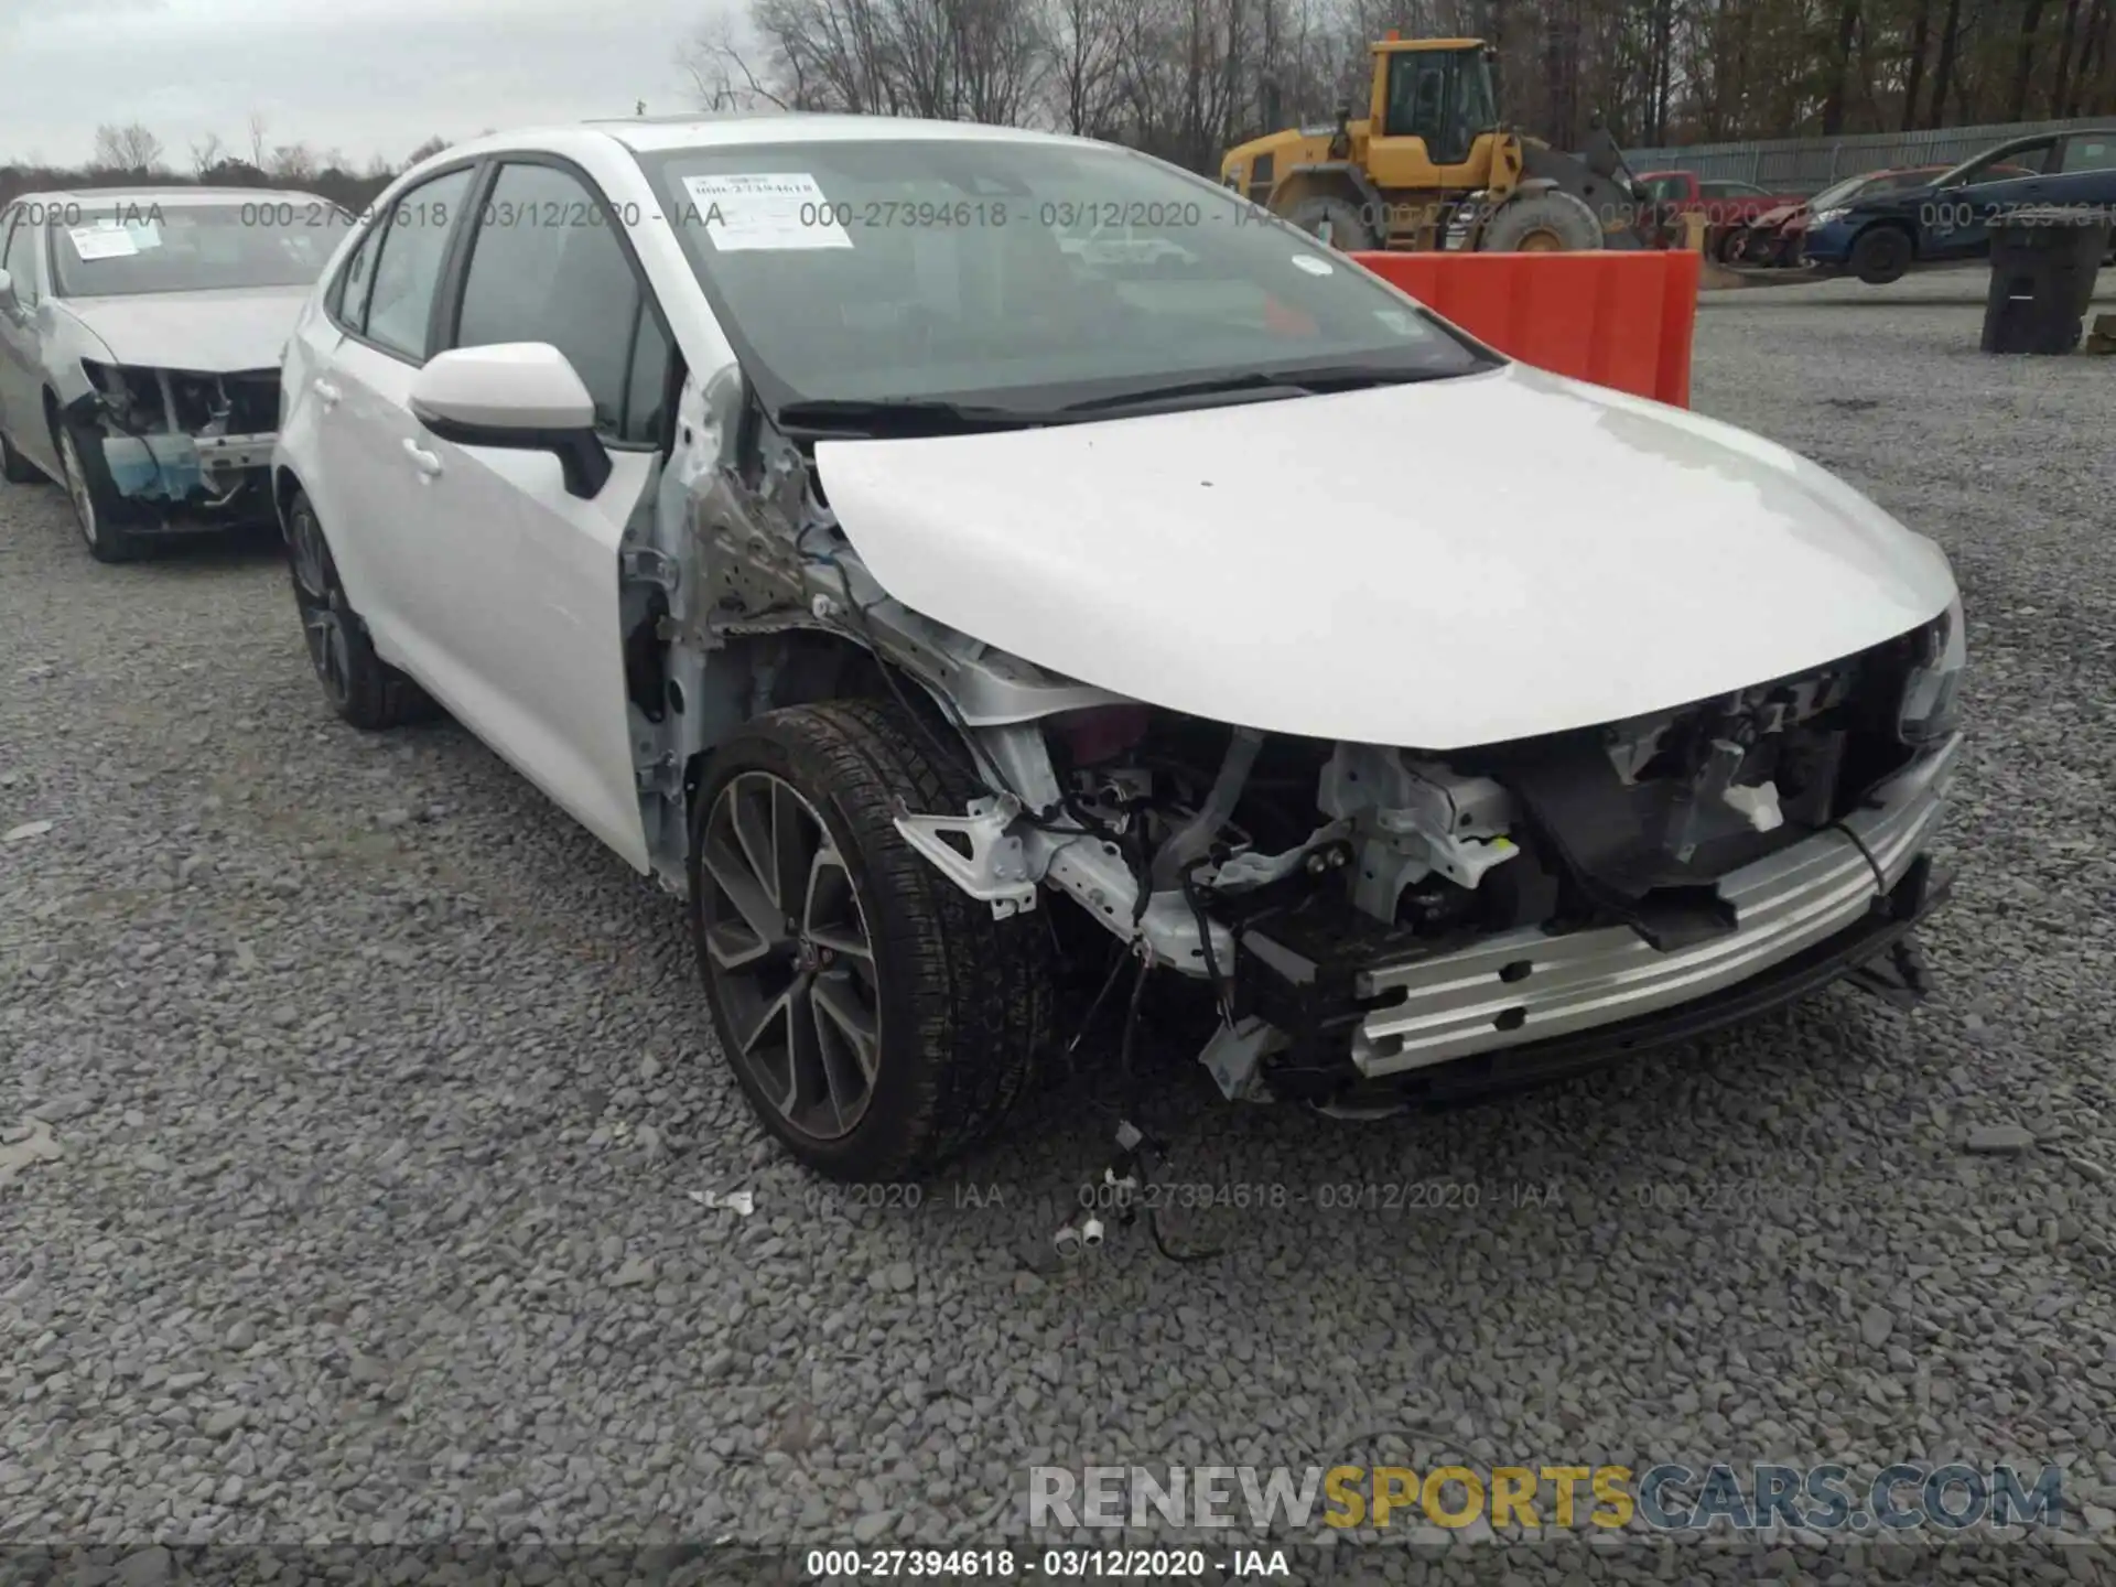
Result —
<path fill-rule="evenodd" d="M 931 1170 L 1155 986 L 1229 1098 L 1333 1113 L 1921 990 L 1942 552 L 1143 154 L 485 138 L 284 385 L 332 707 L 438 703 L 681 891 L 825 1174 Z"/>

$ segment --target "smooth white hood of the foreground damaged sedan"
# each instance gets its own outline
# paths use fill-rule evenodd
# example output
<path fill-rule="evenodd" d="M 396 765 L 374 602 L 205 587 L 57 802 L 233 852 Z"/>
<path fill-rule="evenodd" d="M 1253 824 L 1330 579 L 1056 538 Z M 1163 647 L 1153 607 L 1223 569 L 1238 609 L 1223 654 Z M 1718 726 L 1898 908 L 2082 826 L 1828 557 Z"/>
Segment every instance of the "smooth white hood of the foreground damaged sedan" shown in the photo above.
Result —
<path fill-rule="evenodd" d="M 1416 749 L 1701 700 L 1947 609 L 1947 557 L 1799 455 L 1524 364 L 817 446 L 904 605 L 1054 673 Z"/>

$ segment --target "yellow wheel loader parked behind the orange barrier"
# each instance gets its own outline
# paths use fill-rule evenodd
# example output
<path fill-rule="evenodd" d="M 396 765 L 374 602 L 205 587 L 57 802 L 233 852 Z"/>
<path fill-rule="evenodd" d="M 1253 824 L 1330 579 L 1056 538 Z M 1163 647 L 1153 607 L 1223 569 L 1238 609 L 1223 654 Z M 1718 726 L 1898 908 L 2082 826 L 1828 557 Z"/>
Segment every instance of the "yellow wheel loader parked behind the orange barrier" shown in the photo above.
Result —
<path fill-rule="evenodd" d="M 1498 118 L 1481 38 L 1373 44 L 1367 114 L 1293 127 L 1227 150 L 1223 186 L 1346 252 L 1661 248 L 1650 199 L 1595 118 L 1562 154 Z"/>

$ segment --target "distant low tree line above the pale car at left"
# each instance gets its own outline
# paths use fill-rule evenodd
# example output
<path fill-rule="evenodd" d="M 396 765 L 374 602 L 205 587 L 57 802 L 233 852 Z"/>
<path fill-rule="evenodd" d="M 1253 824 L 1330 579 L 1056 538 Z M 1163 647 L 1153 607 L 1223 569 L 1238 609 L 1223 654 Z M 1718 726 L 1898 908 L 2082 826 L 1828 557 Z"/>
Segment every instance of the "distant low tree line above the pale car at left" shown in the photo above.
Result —
<path fill-rule="evenodd" d="M 47 165 L 34 159 L 0 165 L 0 203 L 19 193 L 83 193 L 180 182 L 218 188 L 300 188 L 330 199 L 349 214 L 360 214 L 398 171 L 449 146 L 442 138 L 427 138 L 404 157 L 402 165 L 375 154 L 355 167 L 339 148 L 275 144 L 269 131 L 264 116 L 252 114 L 243 146 L 224 144 L 218 133 L 209 133 L 190 144 L 186 157 L 171 157 L 161 138 L 138 121 L 104 123 L 95 129 L 95 152 L 87 165 Z"/>

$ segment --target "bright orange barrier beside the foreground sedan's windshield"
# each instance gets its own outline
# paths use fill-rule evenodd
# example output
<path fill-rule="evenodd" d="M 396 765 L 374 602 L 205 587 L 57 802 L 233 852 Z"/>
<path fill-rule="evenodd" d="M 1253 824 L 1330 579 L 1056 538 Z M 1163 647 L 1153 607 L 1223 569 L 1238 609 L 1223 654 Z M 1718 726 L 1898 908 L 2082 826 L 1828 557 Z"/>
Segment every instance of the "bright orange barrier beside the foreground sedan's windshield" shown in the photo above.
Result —
<path fill-rule="evenodd" d="M 1689 250 L 1352 258 L 1507 358 L 1691 406 Z"/>

